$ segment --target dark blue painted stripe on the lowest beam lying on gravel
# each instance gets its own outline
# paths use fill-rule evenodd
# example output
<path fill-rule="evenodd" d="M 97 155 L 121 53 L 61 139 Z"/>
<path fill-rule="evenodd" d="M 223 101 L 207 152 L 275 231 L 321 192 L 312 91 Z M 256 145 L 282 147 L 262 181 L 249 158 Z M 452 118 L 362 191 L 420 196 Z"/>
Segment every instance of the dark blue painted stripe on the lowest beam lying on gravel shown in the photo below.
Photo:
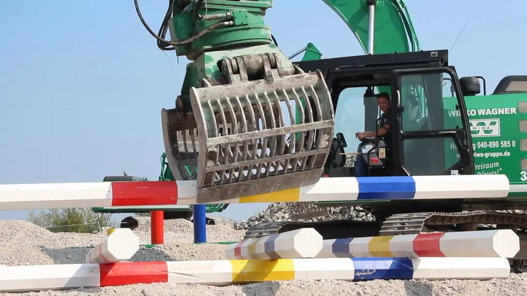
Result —
<path fill-rule="evenodd" d="M 354 281 L 411 280 L 414 266 L 409 258 L 350 258 L 355 267 Z"/>

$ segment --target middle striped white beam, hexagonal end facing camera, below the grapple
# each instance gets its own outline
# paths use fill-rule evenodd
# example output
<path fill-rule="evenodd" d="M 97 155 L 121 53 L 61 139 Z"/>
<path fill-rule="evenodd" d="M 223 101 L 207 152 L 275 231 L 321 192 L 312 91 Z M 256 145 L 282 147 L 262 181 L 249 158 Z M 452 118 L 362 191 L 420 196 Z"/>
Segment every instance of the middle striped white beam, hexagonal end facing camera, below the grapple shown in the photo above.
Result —
<path fill-rule="evenodd" d="M 314 228 L 301 228 L 272 236 L 233 243 L 226 259 L 312 258 L 322 249 L 322 236 Z"/>

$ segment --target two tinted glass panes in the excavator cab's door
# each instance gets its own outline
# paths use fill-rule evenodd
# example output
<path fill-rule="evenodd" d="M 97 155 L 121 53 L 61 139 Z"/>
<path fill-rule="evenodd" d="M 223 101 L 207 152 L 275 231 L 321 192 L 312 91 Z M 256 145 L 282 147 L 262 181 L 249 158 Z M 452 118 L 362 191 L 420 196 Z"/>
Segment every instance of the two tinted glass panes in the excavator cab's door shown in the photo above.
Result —
<path fill-rule="evenodd" d="M 459 153 L 450 137 L 412 138 L 412 132 L 463 128 L 457 96 L 448 73 L 401 76 L 404 166 L 411 175 L 441 175 Z"/>

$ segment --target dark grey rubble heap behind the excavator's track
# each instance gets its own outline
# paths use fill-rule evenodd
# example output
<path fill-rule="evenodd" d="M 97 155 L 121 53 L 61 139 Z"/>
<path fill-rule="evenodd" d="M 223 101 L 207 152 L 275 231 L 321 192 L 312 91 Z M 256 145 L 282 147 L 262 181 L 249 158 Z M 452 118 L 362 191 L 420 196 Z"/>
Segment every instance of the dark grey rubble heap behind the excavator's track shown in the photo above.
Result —
<path fill-rule="evenodd" d="M 247 220 L 241 220 L 236 224 L 236 229 L 249 229 L 260 223 L 271 222 L 286 222 L 286 221 L 301 221 L 301 222 L 316 222 L 316 221 L 333 221 L 333 220 L 357 220 L 357 221 L 372 221 L 375 218 L 360 207 L 330 207 L 322 208 L 325 211 L 324 216 L 308 218 L 308 219 L 294 219 L 294 209 L 298 203 L 296 202 L 274 202 L 270 203 L 267 209 L 252 215 Z M 302 202 L 306 206 L 307 203 Z M 326 211 L 327 209 L 327 211 Z"/>

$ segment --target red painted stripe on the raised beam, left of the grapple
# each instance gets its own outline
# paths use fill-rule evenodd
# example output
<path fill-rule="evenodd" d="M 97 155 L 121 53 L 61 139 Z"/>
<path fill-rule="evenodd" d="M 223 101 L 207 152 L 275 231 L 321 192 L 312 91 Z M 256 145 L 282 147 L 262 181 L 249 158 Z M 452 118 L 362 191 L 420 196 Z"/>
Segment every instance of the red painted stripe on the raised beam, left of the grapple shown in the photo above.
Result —
<path fill-rule="evenodd" d="M 175 181 L 112 182 L 112 206 L 158 206 L 178 203 Z"/>

